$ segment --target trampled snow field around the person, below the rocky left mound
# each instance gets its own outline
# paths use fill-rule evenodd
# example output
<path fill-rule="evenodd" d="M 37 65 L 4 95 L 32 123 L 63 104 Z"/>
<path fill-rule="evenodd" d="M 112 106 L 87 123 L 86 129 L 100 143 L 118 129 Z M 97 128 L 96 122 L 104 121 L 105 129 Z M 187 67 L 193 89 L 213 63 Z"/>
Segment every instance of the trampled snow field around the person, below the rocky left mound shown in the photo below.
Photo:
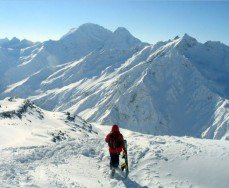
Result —
<path fill-rule="evenodd" d="M 226 141 L 150 136 L 122 129 L 130 174 L 109 176 L 104 136 L 1 149 L 1 187 L 222 187 L 229 185 Z"/>

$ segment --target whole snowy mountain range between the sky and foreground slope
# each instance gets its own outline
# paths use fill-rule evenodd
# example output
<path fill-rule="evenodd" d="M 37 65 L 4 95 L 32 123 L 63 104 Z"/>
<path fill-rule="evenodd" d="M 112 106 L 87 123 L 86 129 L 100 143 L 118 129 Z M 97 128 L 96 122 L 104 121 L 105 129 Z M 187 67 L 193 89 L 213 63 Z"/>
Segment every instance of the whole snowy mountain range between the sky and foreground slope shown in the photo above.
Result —
<path fill-rule="evenodd" d="M 58 41 L 0 40 L 0 98 L 29 98 L 141 133 L 229 137 L 229 47 L 185 34 L 154 45 L 96 24 Z"/>

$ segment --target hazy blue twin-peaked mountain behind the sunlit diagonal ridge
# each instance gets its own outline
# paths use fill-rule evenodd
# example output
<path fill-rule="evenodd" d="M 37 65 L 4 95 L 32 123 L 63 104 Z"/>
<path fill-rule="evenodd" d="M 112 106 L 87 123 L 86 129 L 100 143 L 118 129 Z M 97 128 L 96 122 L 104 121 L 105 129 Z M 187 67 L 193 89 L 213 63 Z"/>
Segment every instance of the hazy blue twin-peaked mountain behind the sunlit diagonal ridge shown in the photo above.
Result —
<path fill-rule="evenodd" d="M 123 40 L 123 42 L 116 43 L 114 39 Z M 107 49 L 108 44 L 111 48 Z M 84 24 L 77 29 L 71 29 L 58 41 L 49 40 L 22 49 L 17 58 L 19 63 L 5 71 L 1 85 L 6 87 L 46 68 L 55 70 L 57 65 L 79 60 L 102 48 L 118 51 L 125 48 L 123 51 L 133 51 L 139 45 L 142 45 L 140 40 L 134 38 L 125 29 L 119 28 L 111 32 L 96 24 Z"/>

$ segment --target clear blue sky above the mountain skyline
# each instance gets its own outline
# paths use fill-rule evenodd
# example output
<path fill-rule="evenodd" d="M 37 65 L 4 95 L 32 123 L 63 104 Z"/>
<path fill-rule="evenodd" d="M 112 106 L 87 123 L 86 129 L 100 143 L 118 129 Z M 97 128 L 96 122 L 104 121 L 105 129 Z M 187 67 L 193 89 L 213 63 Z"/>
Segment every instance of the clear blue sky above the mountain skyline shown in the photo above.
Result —
<path fill-rule="evenodd" d="M 188 33 L 229 45 L 229 1 L 0 0 L 0 38 L 56 40 L 88 22 L 150 43 Z"/>

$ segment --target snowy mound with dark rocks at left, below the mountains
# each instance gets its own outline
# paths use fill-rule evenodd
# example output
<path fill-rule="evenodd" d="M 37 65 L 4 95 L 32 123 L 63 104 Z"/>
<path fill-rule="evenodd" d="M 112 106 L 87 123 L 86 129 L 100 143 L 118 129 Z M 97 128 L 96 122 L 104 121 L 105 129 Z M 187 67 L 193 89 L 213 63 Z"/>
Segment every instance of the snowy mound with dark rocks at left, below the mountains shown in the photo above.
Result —
<path fill-rule="evenodd" d="M 96 135 L 92 125 L 69 113 L 48 112 L 29 100 L 0 101 L 0 147 L 44 145 Z"/>

